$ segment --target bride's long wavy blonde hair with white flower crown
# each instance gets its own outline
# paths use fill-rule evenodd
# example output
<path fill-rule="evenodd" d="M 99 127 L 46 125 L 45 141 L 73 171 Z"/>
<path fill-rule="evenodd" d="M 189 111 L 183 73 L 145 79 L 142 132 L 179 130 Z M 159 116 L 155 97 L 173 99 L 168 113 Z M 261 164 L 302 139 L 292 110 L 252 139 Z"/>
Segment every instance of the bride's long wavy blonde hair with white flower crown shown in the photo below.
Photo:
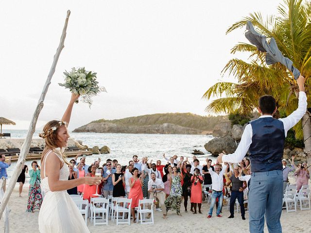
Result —
<path fill-rule="evenodd" d="M 52 150 L 55 154 L 60 155 L 63 158 L 64 162 L 69 165 L 67 157 L 62 153 L 62 151 L 55 150 L 59 147 L 61 143 L 61 141 L 57 138 L 58 130 L 61 126 L 65 126 L 67 128 L 66 125 L 67 123 L 65 121 L 51 120 L 43 127 L 43 133 L 39 133 L 39 137 L 42 137 L 45 141 L 45 147 L 42 151 L 41 156 L 41 164 L 48 150 Z"/>

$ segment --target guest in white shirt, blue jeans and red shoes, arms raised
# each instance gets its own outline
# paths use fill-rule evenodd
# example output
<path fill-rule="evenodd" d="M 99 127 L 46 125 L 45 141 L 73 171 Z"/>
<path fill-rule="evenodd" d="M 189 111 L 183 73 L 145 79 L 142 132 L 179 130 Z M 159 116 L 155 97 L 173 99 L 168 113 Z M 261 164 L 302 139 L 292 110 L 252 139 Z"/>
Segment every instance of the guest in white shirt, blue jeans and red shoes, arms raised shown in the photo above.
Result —
<path fill-rule="evenodd" d="M 208 212 L 208 216 L 207 218 L 210 218 L 213 214 L 213 209 L 214 209 L 214 205 L 216 202 L 216 199 L 218 198 L 218 208 L 216 211 L 216 216 L 217 217 L 222 217 L 220 215 L 221 209 L 223 207 L 223 199 L 224 199 L 224 194 L 223 194 L 223 187 L 224 187 L 224 173 L 225 173 L 225 169 L 222 169 L 220 171 L 220 166 L 219 165 L 215 165 L 214 169 L 215 171 L 213 171 L 213 169 L 210 167 L 210 164 L 207 163 L 207 169 L 209 171 L 209 174 L 212 178 L 212 200 L 210 202 L 210 207 L 209 207 L 209 212 Z"/>

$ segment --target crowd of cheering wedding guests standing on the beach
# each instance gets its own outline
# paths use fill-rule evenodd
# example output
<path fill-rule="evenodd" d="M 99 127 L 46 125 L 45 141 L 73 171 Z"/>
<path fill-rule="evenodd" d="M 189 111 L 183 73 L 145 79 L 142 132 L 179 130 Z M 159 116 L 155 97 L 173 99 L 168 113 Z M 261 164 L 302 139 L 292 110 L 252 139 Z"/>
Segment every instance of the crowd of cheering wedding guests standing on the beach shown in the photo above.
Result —
<path fill-rule="evenodd" d="M 102 183 L 100 185 L 79 185 L 78 187 L 67 190 L 69 194 L 82 194 L 85 200 L 90 200 L 91 197 L 96 197 L 94 194 L 113 197 L 127 197 L 132 199 L 132 212 L 138 206 L 139 200 L 143 198 L 153 198 L 156 203 L 156 210 L 162 211 L 163 218 L 169 210 L 176 211 L 176 214 L 181 216 L 181 204 L 183 202 L 184 211 L 187 213 L 190 199 L 190 211 L 193 214 L 202 214 L 202 200 L 205 198 L 204 192 L 211 193 L 211 204 L 207 218 L 210 218 L 213 213 L 214 205 L 216 204 L 216 216 L 221 217 L 224 196 L 230 198 L 230 216 L 234 217 L 234 206 L 238 200 L 241 209 L 242 219 L 245 219 L 244 200 L 247 200 L 247 191 L 251 181 L 251 164 L 248 158 L 244 158 L 239 164 L 212 165 L 211 159 L 206 159 L 206 164 L 200 165 L 200 161 L 196 156 L 189 161 L 188 158 L 174 155 L 167 158 L 163 154 L 163 159 L 167 161 L 162 165 L 161 160 L 153 162 L 147 157 L 142 157 L 140 160 L 137 155 L 128 162 L 127 165 L 120 165 L 116 159 L 107 159 L 105 163 L 98 158 L 91 165 L 86 165 L 86 157 L 82 156 L 79 161 L 78 154 L 74 159 L 70 160 L 68 180 L 78 179 L 84 176 L 95 176 L 96 169 L 102 171 Z M 306 163 L 294 163 L 292 160 L 283 160 L 283 181 L 285 188 L 288 181 L 288 175 L 294 171 L 296 178 L 297 190 L 302 185 L 308 184 L 310 174 Z M 5 163 L 4 155 L 0 155 L 0 174 L 7 179 L 6 168 L 11 165 L 11 161 Z M 36 161 L 31 164 L 31 169 L 28 170 L 26 165 L 17 179 L 19 183 L 19 196 L 22 194 L 23 184 L 25 183 L 25 174 L 29 173 L 29 191 L 27 212 L 34 212 L 35 209 L 40 209 L 42 203 L 42 195 L 40 189 L 40 166 Z M 203 190 L 203 185 L 212 184 L 211 189 Z"/>

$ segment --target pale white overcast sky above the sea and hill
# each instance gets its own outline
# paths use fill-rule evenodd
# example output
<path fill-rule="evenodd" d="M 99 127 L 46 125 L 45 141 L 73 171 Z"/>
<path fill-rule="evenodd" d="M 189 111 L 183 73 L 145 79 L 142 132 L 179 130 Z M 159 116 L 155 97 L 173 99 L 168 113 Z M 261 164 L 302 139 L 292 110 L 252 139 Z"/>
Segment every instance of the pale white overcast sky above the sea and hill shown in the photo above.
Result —
<path fill-rule="evenodd" d="M 69 130 L 97 119 L 155 113 L 205 116 L 203 94 L 222 75 L 245 29 L 225 34 L 249 13 L 277 14 L 282 0 L 27 0 L 0 8 L 0 116 L 28 129 L 71 11 L 65 47 L 52 77 L 37 129 L 61 119 L 70 99 L 63 72 L 97 72 L 108 93 L 74 105 Z"/>

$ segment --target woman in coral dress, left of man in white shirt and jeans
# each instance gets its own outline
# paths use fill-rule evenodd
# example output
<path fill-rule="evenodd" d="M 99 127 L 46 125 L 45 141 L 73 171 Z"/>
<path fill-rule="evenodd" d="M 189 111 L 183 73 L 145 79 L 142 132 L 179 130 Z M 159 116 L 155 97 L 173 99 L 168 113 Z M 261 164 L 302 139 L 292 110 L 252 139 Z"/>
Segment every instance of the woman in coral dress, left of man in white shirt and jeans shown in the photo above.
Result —
<path fill-rule="evenodd" d="M 196 204 L 198 204 L 198 207 L 199 207 L 199 214 L 202 214 L 201 212 L 201 205 L 202 205 L 201 184 L 202 183 L 203 183 L 203 177 L 201 176 L 200 169 L 195 168 L 193 171 L 193 176 L 191 177 L 191 196 L 190 196 L 190 202 L 194 208 L 193 214 L 196 214 Z"/>

